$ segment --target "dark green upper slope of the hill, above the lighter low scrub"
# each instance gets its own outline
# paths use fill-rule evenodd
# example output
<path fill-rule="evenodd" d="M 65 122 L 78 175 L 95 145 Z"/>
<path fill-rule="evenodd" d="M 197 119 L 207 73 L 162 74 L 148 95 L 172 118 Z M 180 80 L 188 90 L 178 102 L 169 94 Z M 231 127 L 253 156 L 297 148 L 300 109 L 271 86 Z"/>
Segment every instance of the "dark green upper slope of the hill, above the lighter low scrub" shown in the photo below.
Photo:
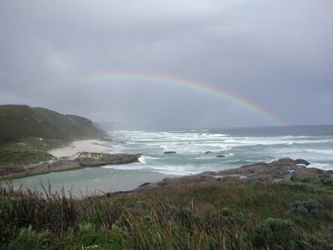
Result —
<path fill-rule="evenodd" d="M 0 142 L 17 142 L 23 138 L 80 140 L 99 138 L 103 134 L 84 117 L 25 105 L 0 106 Z"/>

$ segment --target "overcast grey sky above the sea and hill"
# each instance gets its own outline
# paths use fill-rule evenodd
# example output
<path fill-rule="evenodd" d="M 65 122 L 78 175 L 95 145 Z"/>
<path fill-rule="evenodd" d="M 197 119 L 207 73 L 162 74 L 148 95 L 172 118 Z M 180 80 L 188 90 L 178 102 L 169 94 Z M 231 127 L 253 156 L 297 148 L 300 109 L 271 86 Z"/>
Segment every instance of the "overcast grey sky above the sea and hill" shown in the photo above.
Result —
<path fill-rule="evenodd" d="M 332 10 L 332 0 L 1 1 L 0 104 L 133 128 L 333 124 Z"/>

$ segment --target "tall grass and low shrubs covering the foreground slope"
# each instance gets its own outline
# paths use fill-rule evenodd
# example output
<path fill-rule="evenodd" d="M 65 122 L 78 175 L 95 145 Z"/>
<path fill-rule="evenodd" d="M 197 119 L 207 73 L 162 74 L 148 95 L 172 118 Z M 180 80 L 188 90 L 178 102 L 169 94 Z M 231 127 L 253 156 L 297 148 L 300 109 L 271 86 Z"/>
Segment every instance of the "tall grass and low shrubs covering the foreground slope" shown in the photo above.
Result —
<path fill-rule="evenodd" d="M 332 249 L 332 177 L 101 197 L 0 188 L 1 249 Z"/>

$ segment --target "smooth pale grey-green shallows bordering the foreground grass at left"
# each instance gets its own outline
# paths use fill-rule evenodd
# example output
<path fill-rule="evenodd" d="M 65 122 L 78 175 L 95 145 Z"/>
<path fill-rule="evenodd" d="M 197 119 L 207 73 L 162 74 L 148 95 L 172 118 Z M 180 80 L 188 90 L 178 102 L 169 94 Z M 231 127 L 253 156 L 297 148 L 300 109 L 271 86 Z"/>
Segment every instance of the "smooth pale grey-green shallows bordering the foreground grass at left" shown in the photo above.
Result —
<path fill-rule="evenodd" d="M 74 186 L 70 178 L 76 173 L 76 170 L 83 171 L 83 174 L 86 174 L 85 171 L 87 171 L 91 174 L 92 178 L 88 181 L 83 179 Z M 1 180 L 1 184 L 6 185 L 7 183 L 11 183 L 15 188 L 37 188 L 37 190 L 41 190 L 42 185 L 48 186 L 49 180 L 52 179 L 52 192 L 61 192 L 63 188 L 66 195 L 71 192 L 80 198 L 82 196 L 81 192 L 84 197 L 92 197 L 96 194 L 107 194 L 110 192 L 129 192 L 141 187 L 145 183 L 155 183 L 164 178 L 178 177 L 172 174 L 140 172 L 137 170 L 122 171 L 119 169 L 104 169 L 103 167 L 69 169 L 67 172 L 57 173 L 57 176 L 52 175 L 53 172 L 50 172 L 42 174 L 42 176 L 28 176 L 28 178 L 24 179 Z M 96 188 L 97 183 L 99 188 Z"/>

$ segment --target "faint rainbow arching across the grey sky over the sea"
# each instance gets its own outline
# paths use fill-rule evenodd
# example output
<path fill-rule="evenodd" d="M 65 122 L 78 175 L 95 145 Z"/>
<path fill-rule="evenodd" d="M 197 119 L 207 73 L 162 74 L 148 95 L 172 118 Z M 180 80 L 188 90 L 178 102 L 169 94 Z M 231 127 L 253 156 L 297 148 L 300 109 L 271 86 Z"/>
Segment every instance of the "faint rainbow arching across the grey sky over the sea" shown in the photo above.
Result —
<path fill-rule="evenodd" d="M 85 83 L 85 82 L 115 82 L 115 81 L 142 81 L 142 82 L 150 82 L 150 83 L 160 83 L 165 85 L 176 85 L 182 88 L 188 88 L 190 90 L 196 90 L 199 92 L 203 92 L 206 94 L 210 94 L 215 97 L 219 97 L 224 99 L 225 101 L 229 101 L 230 103 L 234 103 L 235 105 L 244 108 L 244 110 L 248 110 L 251 113 L 255 113 L 260 117 L 266 119 L 271 124 L 277 126 L 284 126 L 284 122 L 282 122 L 275 115 L 271 115 L 263 108 L 260 108 L 255 103 L 250 102 L 241 97 L 237 97 L 230 92 L 220 90 L 218 88 L 213 88 L 210 85 L 198 83 L 196 81 L 188 81 L 185 79 L 171 78 L 166 76 L 157 76 L 153 74 L 129 74 L 129 73 L 101 73 L 94 74 L 85 77 L 73 78 L 70 81 L 66 81 L 67 83 Z"/>

